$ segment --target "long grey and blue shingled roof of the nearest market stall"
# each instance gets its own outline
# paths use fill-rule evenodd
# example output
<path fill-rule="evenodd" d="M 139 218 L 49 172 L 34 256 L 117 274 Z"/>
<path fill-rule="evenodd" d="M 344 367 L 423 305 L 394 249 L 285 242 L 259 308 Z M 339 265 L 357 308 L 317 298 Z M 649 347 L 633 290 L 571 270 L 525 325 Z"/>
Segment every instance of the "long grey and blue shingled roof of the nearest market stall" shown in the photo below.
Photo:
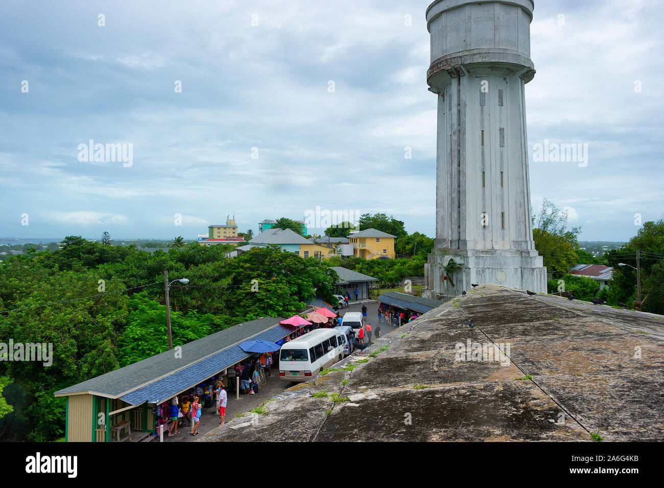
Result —
<path fill-rule="evenodd" d="M 181 349 L 177 350 L 177 355 L 176 350 L 165 351 L 124 368 L 63 388 L 54 394 L 67 396 L 89 393 L 106 398 L 121 398 L 134 405 L 159 400 L 161 398 L 159 392 L 171 390 L 171 386 L 179 387 L 184 383 L 188 383 L 189 386 L 198 384 L 247 357 L 247 353 L 238 347 L 243 341 L 264 339 L 274 342 L 286 337 L 292 329 L 279 325 L 281 320 L 284 318 L 264 317 L 240 323 L 182 345 Z M 215 371 L 208 374 L 210 370 Z M 159 386 L 156 385 L 157 382 L 160 382 Z M 170 383 L 171 386 L 168 386 Z"/>

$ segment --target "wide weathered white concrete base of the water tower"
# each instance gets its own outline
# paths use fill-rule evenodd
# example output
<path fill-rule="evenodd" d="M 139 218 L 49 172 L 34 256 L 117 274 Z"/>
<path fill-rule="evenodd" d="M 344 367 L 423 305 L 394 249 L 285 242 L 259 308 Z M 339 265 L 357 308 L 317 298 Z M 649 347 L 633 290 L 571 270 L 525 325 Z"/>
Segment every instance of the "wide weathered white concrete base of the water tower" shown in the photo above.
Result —
<path fill-rule="evenodd" d="M 459 267 L 448 273 L 445 267 L 452 259 Z M 473 283 L 546 293 L 546 268 L 535 250 L 434 248 L 430 252 L 424 265 L 422 296 L 447 301 L 471 289 Z"/>

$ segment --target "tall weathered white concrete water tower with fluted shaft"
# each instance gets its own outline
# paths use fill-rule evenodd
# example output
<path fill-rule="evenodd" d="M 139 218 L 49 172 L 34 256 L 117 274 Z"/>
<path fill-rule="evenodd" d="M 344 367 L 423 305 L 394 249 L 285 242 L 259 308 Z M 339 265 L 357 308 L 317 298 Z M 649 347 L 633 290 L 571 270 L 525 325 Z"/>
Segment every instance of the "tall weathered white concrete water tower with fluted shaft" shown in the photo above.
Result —
<path fill-rule="evenodd" d="M 484 282 L 546 291 L 524 98 L 535 76 L 533 8 L 531 0 L 437 0 L 426 11 L 427 82 L 438 96 L 436 245 L 425 266 L 432 297 Z"/>

